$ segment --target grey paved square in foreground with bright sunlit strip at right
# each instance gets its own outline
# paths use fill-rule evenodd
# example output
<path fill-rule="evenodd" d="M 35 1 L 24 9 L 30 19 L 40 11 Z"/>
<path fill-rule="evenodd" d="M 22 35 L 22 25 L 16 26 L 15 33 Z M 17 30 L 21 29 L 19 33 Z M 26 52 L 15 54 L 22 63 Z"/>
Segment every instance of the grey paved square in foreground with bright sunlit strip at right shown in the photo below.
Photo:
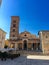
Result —
<path fill-rule="evenodd" d="M 41 56 L 39 56 L 41 57 Z M 46 60 L 46 57 L 49 56 L 42 56 L 44 59 L 39 59 L 38 56 L 20 56 L 14 60 L 7 59 L 6 61 L 0 60 L 0 65 L 49 65 L 49 60 Z"/>

